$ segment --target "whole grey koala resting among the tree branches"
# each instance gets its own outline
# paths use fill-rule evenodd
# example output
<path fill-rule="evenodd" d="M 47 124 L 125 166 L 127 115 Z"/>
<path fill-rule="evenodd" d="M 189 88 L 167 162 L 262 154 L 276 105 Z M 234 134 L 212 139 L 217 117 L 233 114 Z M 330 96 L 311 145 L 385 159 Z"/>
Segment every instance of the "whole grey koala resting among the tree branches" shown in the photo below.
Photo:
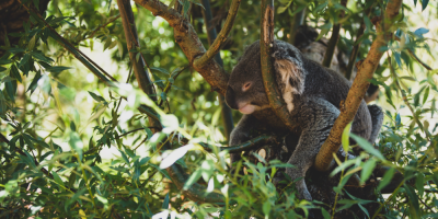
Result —
<path fill-rule="evenodd" d="M 311 200 L 304 176 L 313 165 L 322 143 L 339 115 L 339 103 L 345 100 L 351 83 L 343 76 L 322 67 L 306 57 L 292 45 L 275 41 L 273 62 L 275 78 L 283 97 L 297 124 L 295 134 L 298 146 L 288 163 L 295 165 L 286 173 L 297 182 L 298 197 Z M 227 104 L 244 113 L 231 132 L 230 146 L 250 140 L 252 129 L 266 130 L 284 127 L 273 123 L 273 116 L 257 118 L 255 114 L 273 114 L 265 93 L 261 70 L 260 42 L 250 45 L 231 72 L 226 93 Z M 267 113 L 266 113 L 267 112 Z M 351 132 L 374 142 L 382 125 L 383 114 L 379 106 L 360 103 L 351 126 Z M 240 154 L 231 154 L 231 161 Z"/>

